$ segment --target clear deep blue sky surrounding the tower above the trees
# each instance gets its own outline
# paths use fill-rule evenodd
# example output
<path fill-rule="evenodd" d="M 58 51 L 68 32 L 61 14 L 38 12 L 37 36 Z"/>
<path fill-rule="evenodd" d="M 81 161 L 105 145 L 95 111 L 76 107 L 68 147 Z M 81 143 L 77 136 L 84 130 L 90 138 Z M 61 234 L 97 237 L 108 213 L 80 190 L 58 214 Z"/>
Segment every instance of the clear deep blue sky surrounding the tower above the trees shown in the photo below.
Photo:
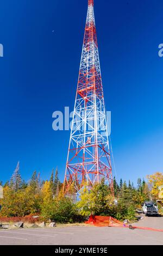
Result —
<path fill-rule="evenodd" d="M 163 170 L 162 0 L 95 0 L 105 105 L 118 179 Z M 87 0 L 3 0 L 0 43 L 0 180 L 20 161 L 61 181 L 70 131 L 52 130 L 52 113 L 73 110 Z M 52 32 L 54 31 L 54 32 Z"/>

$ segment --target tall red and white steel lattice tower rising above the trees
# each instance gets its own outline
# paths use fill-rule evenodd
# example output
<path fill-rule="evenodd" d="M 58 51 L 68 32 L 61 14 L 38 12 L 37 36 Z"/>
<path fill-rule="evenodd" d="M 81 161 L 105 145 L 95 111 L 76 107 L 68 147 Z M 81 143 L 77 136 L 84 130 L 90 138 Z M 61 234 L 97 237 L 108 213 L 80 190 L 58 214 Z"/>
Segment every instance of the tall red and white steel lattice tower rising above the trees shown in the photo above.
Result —
<path fill-rule="evenodd" d="M 90 186 L 102 178 L 114 195 L 93 0 L 89 0 L 64 193 L 71 184 L 78 191 L 83 184 Z"/>

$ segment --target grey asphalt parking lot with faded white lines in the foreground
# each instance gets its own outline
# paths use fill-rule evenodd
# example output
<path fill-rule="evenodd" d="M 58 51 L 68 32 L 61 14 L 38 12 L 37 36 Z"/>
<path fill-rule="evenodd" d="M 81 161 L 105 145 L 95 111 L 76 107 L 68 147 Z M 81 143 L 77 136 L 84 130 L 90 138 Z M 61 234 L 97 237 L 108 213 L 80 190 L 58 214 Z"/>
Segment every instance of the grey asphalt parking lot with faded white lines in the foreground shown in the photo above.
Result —
<path fill-rule="evenodd" d="M 163 229 L 163 217 L 135 225 Z M 0 245 L 163 245 L 163 232 L 93 226 L 1 229 Z"/>

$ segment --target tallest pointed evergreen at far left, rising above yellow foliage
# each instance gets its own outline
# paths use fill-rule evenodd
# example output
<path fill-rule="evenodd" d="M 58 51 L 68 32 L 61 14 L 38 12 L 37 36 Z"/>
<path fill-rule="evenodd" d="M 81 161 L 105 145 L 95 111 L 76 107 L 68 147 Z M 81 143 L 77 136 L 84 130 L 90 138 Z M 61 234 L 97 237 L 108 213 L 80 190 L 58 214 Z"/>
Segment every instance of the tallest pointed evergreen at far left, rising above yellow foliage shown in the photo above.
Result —
<path fill-rule="evenodd" d="M 17 191 L 22 186 L 22 178 L 20 175 L 20 163 L 17 163 L 16 169 L 10 179 L 10 187 L 12 190 Z"/>

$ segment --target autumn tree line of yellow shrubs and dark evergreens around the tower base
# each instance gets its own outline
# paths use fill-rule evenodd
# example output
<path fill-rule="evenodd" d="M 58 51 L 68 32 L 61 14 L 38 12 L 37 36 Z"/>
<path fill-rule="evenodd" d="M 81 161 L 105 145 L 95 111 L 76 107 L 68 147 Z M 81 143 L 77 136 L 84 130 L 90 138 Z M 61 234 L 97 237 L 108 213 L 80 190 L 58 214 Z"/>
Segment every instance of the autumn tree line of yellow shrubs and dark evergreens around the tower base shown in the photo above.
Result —
<path fill-rule="evenodd" d="M 159 186 L 163 185 L 163 174 L 155 173 L 147 176 L 147 181 L 137 179 L 134 186 L 128 182 L 114 182 L 115 198 L 111 196 L 108 185 L 102 180 L 92 187 L 83 185 L 79 198 L 64 196 L 63 184 L 58 177 L 58 168 L 52 170 L 49 180 L 41 181 L 40 173 L 33 172 L 29 182 L 22 179 L 20 163 L 9 181 L 3 185 L 4 197 L 0 199 L 1 217 L 23 217 L 39 215 L 42 220 L 60 223 L 84 221 L 90 214 L 112 216 L 118 220 L 136 220 L 136 208 L 146 200 L 155 202 L 159 196 Z M 0 182 L 2 185 L 2 182 Z M 74 184 L 70 193 L 74 194 Z"/>

